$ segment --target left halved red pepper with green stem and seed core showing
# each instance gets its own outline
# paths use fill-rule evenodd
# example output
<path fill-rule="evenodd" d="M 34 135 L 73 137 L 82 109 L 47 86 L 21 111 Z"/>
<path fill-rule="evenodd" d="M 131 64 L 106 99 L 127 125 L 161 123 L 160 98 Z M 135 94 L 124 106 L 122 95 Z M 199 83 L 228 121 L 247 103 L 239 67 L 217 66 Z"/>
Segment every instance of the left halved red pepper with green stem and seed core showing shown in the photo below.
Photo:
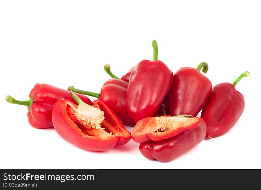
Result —
<path fill-rule="evenodd" d="M 130 132 L 106 104 L 94 100 L 90 106 L 73 92 L 71 95 L 78 106 L 61 99 L 52 110 L 53 126 L 62 138 L 90 151 L 106 151 L 130 140 Z"/>

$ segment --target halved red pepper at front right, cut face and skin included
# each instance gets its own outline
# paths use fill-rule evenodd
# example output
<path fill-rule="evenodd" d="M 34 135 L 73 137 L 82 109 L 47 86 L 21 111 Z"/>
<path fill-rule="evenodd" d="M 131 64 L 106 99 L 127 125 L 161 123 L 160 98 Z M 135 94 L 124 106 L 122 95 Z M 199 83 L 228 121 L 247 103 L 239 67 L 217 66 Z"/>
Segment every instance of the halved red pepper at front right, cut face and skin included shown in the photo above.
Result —
<path fill-rule="evenodd" d="M 200 143 L 205 135 L 203 119 L 189 115 L 147 117 L 140 120 L 131 132 L 133 140 L 141 143 L 141 154 L 160 162 L 184 154 Z"/>

